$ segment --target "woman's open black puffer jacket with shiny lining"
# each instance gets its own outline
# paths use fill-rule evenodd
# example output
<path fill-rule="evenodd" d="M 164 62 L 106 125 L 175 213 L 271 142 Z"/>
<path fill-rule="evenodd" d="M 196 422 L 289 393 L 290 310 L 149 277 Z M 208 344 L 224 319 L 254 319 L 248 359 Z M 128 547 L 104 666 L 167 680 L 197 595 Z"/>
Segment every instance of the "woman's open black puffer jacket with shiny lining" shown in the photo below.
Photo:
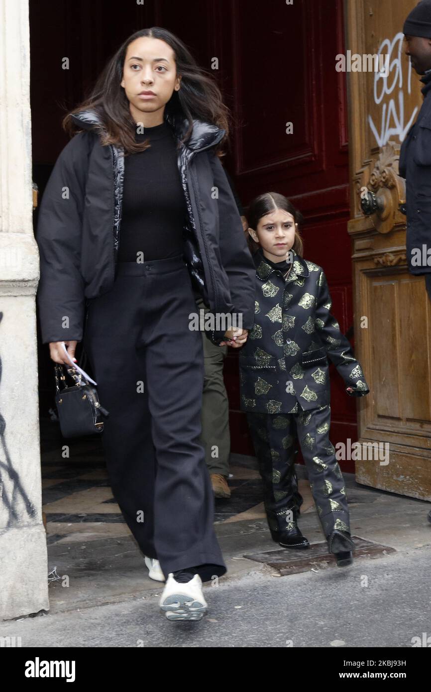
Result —
<path fill-rule="evenodd" d="M 113 286 L 118 266 L 124 151 L 100 143 L 93 111 L 73 119 L 84 129 L 64 147 L 48 180 L 39 210 L 37 291 L 42 343 L 82 340 L 86 299 Z M 187 121 L 167 122 L 179 140 Z M 212 313 L 242 313 L 251 329 L 255 266 L 226 174 L 214 152 L 224 130 L 193 121 L 192 136 L 178 150 L 187 201 L 184 257 L 194 289 Z M 215 193 L 215 194 L 214 194 Z M 221 325 L 223 327 L 223 324 Z M 205 331 L 214 343 L 225 329 Z"/>

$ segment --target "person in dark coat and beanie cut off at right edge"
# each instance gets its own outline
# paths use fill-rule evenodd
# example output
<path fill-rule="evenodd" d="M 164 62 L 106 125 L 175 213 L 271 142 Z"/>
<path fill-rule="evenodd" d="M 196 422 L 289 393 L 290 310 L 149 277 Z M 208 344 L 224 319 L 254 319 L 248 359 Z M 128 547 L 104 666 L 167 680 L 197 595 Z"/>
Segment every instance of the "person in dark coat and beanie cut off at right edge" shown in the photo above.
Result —
<path fill-rule="evenodd" d="M 431 0 L 422 0 L 413 8 L 403 33 L 405 54 L 414 71 L 423 75 L 423 104 L 403 140 L 398 165 L 406 188 L 407 266 L 411 274 L 425 276 L 431 300 Z"/>

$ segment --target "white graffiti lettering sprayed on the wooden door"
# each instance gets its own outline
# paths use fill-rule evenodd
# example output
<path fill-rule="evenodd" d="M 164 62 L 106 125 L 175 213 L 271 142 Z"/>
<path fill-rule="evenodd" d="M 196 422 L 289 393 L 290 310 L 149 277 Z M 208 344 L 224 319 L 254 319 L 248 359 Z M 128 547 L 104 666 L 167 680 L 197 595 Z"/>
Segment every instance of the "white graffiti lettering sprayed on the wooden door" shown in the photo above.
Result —
<path fill-rule="evenodd" d="M 400 142 L 403 141 L 407 131 L 410 129 L 416 118 L 417 106 L 414 108 L 407 125 L 404 125 L 404 91 L 403 91 L 403 50 L 404 34 L 398 33 L 392 40 L 385 39 L 378 48 L 378 55 L 389 55 L 389 72 L 376 72 L 374 74 L 374 103 L 379 105 L 387 95 L 392 97 L 389 102 L 382 105 L 382 118 L 380 122 L 380 132 L 377 131 L 372 117 L 368 116 L 369 127 L 371 127 L 376 142 L 379 147 L 383 147 L 392 136 L 398 136 Z M 392 54 L 394 58 L 392 60 Z M 392 82 L 390 81 L 392 80 Z M 390 83 L 389 83 L 390 82 Z M 407 74 L 407 93 L 412 91 L 412 64 L 408 61 Z M 397 93 L 398 92 L 398 93 Z M 397 102 L 398 101 L 398 102 Z"/>

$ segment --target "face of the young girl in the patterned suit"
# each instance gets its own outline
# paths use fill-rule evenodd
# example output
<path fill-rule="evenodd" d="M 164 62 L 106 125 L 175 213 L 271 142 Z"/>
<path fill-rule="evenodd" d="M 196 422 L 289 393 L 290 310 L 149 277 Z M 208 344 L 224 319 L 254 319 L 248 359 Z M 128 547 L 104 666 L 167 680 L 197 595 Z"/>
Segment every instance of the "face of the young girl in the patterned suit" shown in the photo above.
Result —
<path fill-rule="evenodd" d="M 262 247 L 267 260 L 288 260 L 288 251 L 295 242 L 295 219 L 283 209 L 275 209 L 259 219 L 256 230 L 248 229 L 253 240 Z"/>

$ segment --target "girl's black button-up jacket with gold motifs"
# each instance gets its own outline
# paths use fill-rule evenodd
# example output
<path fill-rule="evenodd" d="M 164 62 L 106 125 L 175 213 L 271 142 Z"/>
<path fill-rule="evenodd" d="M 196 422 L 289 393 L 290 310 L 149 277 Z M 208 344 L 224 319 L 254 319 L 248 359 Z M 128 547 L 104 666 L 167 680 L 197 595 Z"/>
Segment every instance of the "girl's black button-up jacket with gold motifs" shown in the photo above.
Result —
<path fill-rule="evenodd" d="M 354 396 L 367 394 L 363 370 L 331 315 L 322 267 L 293 251 L 285 280 L 262 248 L 253 260 L 255 325 L 239 351 L 241 410 L 295 413 L 325 406 L 331 394 L 327 356 Z"/>

